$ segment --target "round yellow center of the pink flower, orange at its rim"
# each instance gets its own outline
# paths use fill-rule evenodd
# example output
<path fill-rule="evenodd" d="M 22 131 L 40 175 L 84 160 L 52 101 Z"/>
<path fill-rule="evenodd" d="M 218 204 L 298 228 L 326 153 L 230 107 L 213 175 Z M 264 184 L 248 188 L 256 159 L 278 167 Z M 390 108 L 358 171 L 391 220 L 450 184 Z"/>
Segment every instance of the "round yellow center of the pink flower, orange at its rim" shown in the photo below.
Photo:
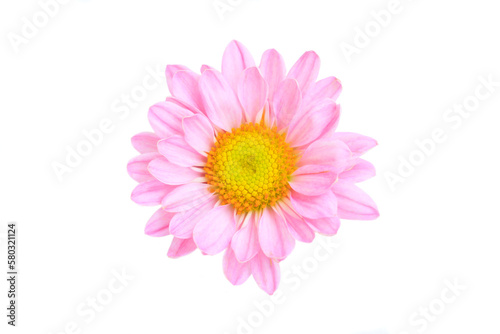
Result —
<path fill-rule="evenodd" d="M 204 169 L 222 205 L 232 204 L 242 214 L 273 206 L 288 194 L 297 159 L 285 136 L 254 123 L 217 135 Z"/>

